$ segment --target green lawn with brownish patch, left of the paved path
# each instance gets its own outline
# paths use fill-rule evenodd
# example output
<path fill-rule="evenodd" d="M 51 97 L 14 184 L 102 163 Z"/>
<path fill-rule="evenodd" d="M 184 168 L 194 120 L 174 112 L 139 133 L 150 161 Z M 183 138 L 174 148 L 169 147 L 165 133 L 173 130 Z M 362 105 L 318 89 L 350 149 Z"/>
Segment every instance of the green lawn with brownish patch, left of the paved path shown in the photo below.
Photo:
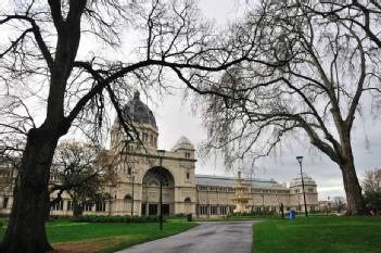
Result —
<path fill-rule="evenodd" d="M 195 223 L 166 222 L 161 232 L 157 224 L 89 224 L 55 220 L 48 223 L 49 241 L 65 253 L 107 253 L 138 243 L 168 237 L 196 226 Z M 0 228 L 0 240 L 4 228 Z"/>

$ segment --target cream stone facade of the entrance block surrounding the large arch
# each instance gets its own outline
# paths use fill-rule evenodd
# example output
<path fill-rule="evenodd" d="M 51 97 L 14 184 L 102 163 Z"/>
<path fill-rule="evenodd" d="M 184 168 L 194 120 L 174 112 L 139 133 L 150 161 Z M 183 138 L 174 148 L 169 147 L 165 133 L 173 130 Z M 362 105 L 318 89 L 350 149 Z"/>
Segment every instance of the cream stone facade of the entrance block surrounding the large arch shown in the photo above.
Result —
<path fill-rule="evenodd" d="M 111 152 L 117 152 L 113 150 Z M 186 152 L 190 153 L 190 157 L 186 159 Z M 162 160 L 162 164 L 161 164 Z M 120 213 L 124 210 L 122 199 L 126 194 L 131 194 L 132 187 L 130 177 L 127 176 L 126 168 L 131 166 L 135 173 L 135 214 L 141 213 L 141 204 L 147 201 L 147 193 L 149 195 L 149 202 L 158 201 L 158 188 L 142 189 L 142 180 L 147 172 L 153 167 L 162 166 L 166 168 L 174 177 L 175 187 L 169 190 L 163 188 L 163 203 L 174 203 L 170 206 L 173 213 L 195 213 L 195 176 L 194 176 L 194 150 L 177 150 L 176 152 L 166 151 L 164 156 L 161 159 L 156 150 L 149 149 L 145 153 L 126 153 L 125 157 L 122 157 L 124 164 L 119 164 L 117 169 L 117 184 L 114 189 L 116 192 L 116 203 L 112 204 L 112 213 Z M 189 179 L 187 179 L 187 173 L 189 173 Z M 113 194 L 112 194 L 113 195 Z M 185 199 L 190 198 L 191 203 L 185 204 Z M 130 211 L 128 211 L 130 213 Z"/>

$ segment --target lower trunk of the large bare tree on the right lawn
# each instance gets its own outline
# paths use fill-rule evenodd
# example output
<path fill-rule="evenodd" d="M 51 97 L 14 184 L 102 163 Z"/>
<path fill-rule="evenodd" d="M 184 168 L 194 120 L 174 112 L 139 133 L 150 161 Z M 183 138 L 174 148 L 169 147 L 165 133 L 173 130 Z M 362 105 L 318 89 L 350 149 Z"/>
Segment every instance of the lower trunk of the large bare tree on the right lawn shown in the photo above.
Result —
<path fill-rule="evenodd" d="M 353 161 L 341 166 L 344 190 L 346 194 L 347 214 L 363 215 L 365 214 L 365 202 L 361 194 L 361 187 L 358 182 L 355 165 Z"/>

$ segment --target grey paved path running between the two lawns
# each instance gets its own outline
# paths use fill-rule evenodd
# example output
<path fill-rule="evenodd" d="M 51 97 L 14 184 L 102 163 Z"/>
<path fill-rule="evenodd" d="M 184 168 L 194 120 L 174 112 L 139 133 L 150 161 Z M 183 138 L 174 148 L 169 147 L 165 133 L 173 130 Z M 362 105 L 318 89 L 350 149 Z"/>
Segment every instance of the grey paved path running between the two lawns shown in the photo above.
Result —
<path fill-rule="evenodd" d="M 254 223 L 202 223 L 188 231 L 117 253 L 251 253 Z"/>

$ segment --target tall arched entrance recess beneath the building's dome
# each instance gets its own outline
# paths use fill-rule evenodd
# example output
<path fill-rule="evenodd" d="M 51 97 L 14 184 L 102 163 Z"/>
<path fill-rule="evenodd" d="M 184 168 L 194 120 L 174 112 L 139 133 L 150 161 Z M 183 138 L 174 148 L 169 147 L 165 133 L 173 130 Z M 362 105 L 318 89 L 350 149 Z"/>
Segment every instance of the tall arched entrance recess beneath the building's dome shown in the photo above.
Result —
<path fill-rule="evenodd" d="M 142 180 L 141 215 L 156 215 L 160 203 L 160 184 L 163 187 L 163 215 L 175 213 L 175 179 L 164 167 L 152 167 L 147 170 Z"/>

